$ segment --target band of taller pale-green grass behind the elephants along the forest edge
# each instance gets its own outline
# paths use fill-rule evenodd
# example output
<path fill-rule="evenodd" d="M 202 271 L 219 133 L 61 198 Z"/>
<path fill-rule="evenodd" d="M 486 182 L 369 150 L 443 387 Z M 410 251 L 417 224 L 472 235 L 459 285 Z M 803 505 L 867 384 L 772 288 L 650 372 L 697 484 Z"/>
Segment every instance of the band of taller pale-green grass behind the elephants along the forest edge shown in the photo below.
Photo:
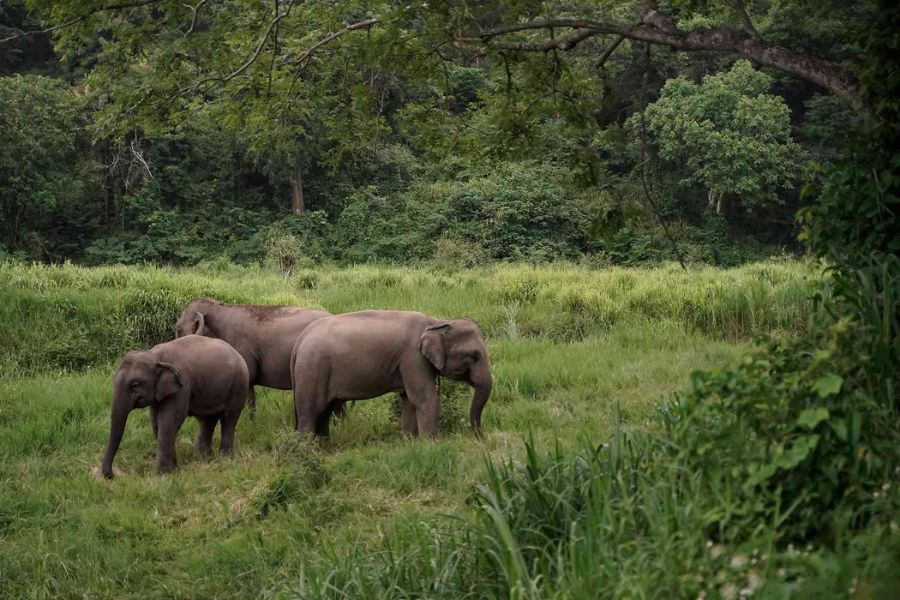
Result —
<path fill-rule="evenodd" d="M 688 333 L 735 340 L 802 330 L 819 276 L 817 265 L 786 261 L 687 272 L 676 266 L 492 265 L 450 272 L 365 265 L 302 270 L 288 280 L 253 267 L 0 263 L 0 372 L 78 370 L 167 340 L 196 296 L 331 312 L 467 315 L 490 339 L 568 342 L 622 324 L 671 322 Z"/>

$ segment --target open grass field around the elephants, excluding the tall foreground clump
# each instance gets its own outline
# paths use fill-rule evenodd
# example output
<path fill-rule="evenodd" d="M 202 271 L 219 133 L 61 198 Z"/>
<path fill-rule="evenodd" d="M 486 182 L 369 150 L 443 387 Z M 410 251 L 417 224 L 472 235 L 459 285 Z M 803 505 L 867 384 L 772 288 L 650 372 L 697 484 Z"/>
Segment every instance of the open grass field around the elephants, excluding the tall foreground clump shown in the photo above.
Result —
<path fill-rule="evenodd" d="M 488 459 L 523 460 L 529 435 L 577 448 L 644 427 L 694 369 L 738 360 L 755 334 L 802 330 L 818 277 L 796 262 L 689 273 L 360 266 L 288 280 L 237 267 L 0 265 L 0 597 L 354 597 L 329 579 L 329 561 L 390 547 L 398 527 L 465 519 Z M 99 479 L 117 357 L 166 339 L 196 295 L 471 316 L 494 365 L 486 435 L 463 426 L 468 388 L 445 384 L 436 441 L 405 439 L 394 399 L 381 398 L 310 444 L 290 432 L 289 392 L 258 388 L 234 457 L 195 456 L 189 420 L 179 470 L 156 475 L 144 411 L 129 420 L 119 477 Z"/>

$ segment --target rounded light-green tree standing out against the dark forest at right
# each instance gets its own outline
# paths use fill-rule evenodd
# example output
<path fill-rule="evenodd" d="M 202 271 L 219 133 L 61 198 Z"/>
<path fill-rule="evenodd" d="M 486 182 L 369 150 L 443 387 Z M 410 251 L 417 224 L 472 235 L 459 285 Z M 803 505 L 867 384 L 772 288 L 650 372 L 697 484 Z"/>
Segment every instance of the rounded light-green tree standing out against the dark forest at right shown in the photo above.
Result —
<path fill-rule="evenodd" d="M 647 129 L 660 157 L 682 165 L 684 180 L 708 191 L 716 213 L 722 213 L 726 194 L 745 208 L 759 206 L 776 200 L 779 189 L 803 174 L 790 111 L 781 97 L 768 93 L 771 86 L 771 77 L 740 60 L 699 85 L 671 79 L 647 106 Z"/>

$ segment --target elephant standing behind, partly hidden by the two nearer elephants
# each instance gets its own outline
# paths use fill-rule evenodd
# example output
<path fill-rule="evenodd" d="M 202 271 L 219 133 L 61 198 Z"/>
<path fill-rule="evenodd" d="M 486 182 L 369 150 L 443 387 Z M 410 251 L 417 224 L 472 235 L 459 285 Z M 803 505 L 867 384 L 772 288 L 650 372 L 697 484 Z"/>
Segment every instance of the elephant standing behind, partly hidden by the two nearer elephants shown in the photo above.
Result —
<path fill-rule="evenodd" d="M 247 363 L 251 415 L 256 410 L 254 385 L 291 389 L 291 351 L 306 327 L 330 316 L 324 310 L 265 304 L 223 304 L 211 298 L 188 302 L 175 325 L 175 337 L 196 334 L 231 344 Z"/>

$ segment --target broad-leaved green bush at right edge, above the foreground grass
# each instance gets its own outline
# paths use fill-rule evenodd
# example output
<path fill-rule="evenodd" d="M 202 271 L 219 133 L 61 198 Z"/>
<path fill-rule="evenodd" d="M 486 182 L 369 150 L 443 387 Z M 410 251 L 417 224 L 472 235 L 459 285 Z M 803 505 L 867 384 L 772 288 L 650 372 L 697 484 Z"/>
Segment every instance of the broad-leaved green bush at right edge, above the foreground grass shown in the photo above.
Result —
<path fill-rule="evenodd" d="M 777 524 L 783 541 L 833 538 L 836 511 L 859 525 L 900 466 L 894 408 L 868 389 L 861 328 L 769 340 L 737 369 L 695 375 L 665 408 L 680 464 L 735 508 L 708 524 L 720 536 Z M 874 497 L 873 497 L 873 494 Z"/>

